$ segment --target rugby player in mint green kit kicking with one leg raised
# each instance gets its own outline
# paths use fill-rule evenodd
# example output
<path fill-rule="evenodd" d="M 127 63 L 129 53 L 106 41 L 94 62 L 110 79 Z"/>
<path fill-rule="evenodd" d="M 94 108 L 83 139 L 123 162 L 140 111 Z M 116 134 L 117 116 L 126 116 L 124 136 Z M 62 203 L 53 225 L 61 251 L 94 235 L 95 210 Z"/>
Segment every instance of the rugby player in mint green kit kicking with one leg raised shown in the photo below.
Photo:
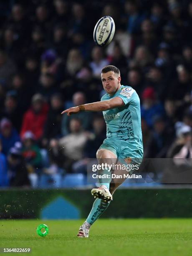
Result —
<path fill-rule="evenodd" d="M 106 162 L 114 164 L 114 161 L 119 161 L 118 159 L 124 159 L 126 164 L 130 162 L 141 164 L 143 143 L 139 96 L 132 87 L 121 85 L 120 71 L 112 65 L 101 70 L 101 81 L 106 94 L 100 102 L 68 108 L 61 114 L 103 111 L 107 138 L 96 153 L 99 164 Z M 115 172 L 117 170 L 114 170 Z M 88 237 L 91 225 L 109 206 L 116 188 L 124 180 L 99 179 L 100 187 L 91 190 L 96 200 L 86 221 L 79 229 L 78 237 Z"/>

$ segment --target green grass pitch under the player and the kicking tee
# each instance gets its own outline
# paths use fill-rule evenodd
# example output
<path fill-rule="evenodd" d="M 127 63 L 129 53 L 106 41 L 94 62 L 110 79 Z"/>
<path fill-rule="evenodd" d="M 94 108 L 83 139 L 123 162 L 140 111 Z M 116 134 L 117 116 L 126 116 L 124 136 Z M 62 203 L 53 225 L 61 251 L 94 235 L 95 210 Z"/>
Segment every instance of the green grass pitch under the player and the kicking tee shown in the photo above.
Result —
<path fill-rule="evenodd" d="M 192 219 L 100 219 L 89 238 L 77 238 L 83 221 L 0 220 L 0 247 L 30 247 L 19 254 L 34 256 L 192 255 Z M 36 233 L 41 223 L 49 227 L 45 237 Z"/>

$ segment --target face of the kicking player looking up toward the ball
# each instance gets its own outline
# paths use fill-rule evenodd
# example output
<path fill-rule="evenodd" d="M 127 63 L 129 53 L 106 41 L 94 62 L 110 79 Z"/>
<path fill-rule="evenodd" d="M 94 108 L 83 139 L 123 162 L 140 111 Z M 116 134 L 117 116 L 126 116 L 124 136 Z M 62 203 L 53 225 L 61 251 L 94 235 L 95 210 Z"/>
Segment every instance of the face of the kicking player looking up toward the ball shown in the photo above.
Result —
<path fill-rule="evenodd" d="M 114 94 L 121 86 L 121 77 L 119 77 L 118 74 L 114 73 L 113 71 L 101 73 L 101 80 L 104 90 L 109 94 Z"/>

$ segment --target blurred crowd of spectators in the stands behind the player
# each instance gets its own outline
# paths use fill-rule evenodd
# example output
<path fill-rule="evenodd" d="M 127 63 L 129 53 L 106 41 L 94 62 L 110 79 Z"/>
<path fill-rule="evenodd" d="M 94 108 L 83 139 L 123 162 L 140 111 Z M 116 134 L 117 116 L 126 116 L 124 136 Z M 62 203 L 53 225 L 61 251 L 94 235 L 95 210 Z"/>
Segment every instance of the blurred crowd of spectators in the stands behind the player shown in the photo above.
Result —
<path fill-rule="evenodd" d="M 110 15 L 109 46 L 93 42 Z M 0 187 L 86 173 L 106 138 L 99 101 L 114 65 L 141 101 L 145 158 L 192 158 L 192 1 L 31 0 L 0 3 Z M 57 176 L 57 175 L 60 176 Z"/>

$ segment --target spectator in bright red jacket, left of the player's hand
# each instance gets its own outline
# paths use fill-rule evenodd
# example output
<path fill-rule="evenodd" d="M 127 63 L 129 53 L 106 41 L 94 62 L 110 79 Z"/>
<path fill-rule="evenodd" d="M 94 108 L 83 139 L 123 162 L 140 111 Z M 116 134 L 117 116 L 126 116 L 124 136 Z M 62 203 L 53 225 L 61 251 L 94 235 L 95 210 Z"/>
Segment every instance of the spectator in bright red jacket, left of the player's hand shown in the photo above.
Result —
<path fill-rule="evenodd" d="M 33 95 L 31 103 L 31 108 L 24 114 L 20 136 L 22 138 L 26 131 L 31 131 L 35 138 L 40 140 L 47 119 L 48 105 L 40 94 Z"/>

